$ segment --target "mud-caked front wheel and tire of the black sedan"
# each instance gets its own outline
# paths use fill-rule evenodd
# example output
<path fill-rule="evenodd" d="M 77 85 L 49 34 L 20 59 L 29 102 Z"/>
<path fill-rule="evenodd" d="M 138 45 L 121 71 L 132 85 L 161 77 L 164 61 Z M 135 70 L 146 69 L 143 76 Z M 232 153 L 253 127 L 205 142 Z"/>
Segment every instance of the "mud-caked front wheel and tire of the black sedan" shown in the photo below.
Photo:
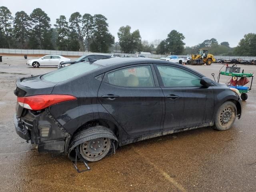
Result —
<path fill-rule="evenodd" d="M 219 131 L 230 129 L 236 120 L 236 113 L 236 105 L 233 102 L 223 103 L 215 116 L 215 129 Z"/>

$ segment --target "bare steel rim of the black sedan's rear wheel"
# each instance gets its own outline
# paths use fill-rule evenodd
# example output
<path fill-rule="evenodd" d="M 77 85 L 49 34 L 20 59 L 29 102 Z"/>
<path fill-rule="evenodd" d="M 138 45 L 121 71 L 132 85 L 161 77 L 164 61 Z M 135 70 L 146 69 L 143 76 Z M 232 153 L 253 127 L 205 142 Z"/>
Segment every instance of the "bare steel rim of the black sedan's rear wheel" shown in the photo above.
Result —
<path fill-rule="evenodd" d="M 110 144 L 109 138 L 92 139 L 80 144 L 80 153 L 88 161 L 98 161 L 108 154 Z"/>

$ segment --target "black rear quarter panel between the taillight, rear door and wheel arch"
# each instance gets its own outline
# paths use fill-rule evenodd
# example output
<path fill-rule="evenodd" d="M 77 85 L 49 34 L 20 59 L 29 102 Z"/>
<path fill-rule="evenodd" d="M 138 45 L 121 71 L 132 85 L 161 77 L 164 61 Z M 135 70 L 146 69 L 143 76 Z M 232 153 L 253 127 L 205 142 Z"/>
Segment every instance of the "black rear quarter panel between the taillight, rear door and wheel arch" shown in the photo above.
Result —
<path fill-rule="evenodd" d="M 86 74 L 68 82 L 58 83 L 52 90 L 52 94 L 68 94 L 77 98 L 68 104 L 63 102 L 50 108 L 51 114 L 70 134 L 85 122 L 98 118 L 96 105 L 100 83 L 92 74 Z"/>

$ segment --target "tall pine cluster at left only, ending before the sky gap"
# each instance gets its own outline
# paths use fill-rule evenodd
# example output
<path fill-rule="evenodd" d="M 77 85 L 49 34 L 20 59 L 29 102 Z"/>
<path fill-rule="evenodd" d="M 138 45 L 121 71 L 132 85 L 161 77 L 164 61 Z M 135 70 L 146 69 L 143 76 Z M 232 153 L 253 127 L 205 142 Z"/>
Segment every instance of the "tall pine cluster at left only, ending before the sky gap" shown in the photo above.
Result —
<path fill-rule="evenodd" d="M 71 14 L 67 21 L 61 15 L 55 28 L 50 18 L 40 8 L 28 15 L 16 12 L 12 17 L 7 7 L 0 7 L 0 48 L 70 50 L 108 52 L 114 36 L 108 31 L 107 18 L 102 14 Z"/>

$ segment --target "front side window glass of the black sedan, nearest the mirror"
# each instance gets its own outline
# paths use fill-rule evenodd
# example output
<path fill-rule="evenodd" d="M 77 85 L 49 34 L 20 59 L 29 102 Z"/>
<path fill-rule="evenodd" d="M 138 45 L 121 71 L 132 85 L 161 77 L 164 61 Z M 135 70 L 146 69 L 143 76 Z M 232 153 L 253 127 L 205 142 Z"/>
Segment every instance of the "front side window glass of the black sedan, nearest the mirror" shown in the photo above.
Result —
<path fill-rule="evenodd" d="M 201 78 L 187 70 L 166 65 L 157 65 L 165 87 L 202 86 Z"/>

